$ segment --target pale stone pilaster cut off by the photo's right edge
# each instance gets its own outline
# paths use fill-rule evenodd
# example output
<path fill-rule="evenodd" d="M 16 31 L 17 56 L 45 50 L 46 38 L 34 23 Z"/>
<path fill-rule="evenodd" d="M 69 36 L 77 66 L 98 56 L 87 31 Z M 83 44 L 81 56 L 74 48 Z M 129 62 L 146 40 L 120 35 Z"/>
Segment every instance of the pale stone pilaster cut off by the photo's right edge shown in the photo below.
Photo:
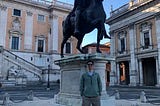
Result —
<path fill-rule="evenodd" d="M 160 66 L 160 13 L 156 15 L 156 36 L 157 36 L 157 46 L 158 46 L 158 66 Z M 160 67 L 157 70 L 157 78 L 160 78 Z M 157 80 L 159 84 L 159 79 Z"/>

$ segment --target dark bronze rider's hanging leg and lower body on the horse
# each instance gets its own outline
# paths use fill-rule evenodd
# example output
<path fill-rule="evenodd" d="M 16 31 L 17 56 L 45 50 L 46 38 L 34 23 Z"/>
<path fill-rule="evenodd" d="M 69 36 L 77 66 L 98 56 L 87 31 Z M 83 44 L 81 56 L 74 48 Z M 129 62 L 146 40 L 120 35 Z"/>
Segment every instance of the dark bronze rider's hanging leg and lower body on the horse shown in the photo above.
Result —
<path fill-rule="evenodd" d="M 87 1 L 89 0 L 75 0 L 74 1 L 74 8 L 72 12 L 75 12 L 75 29 L 74 34 L 80 34 L 79 31 L 79 20 L 81 13 L 87 8 Z"/>

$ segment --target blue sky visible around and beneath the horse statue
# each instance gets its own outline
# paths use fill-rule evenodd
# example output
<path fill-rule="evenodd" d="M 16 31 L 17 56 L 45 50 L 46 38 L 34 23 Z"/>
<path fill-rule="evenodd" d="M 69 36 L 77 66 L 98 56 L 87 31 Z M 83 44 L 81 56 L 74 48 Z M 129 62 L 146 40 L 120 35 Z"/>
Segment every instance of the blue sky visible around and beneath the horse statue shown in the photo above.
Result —
<path fill-rule="evenodd" d="M 69 3 L 69 4 L 74 3 L 74 0 L 57 0 L 57 1 L 66 2 L 66 3 Z M 103 1 L 103 6 L 104 6 L 104 9 L 105 9 L 107 18 L 110 17 L 111 5 L 112 5 L 113 10 L 115 10 L 115 9 L 129 3 L 129 1 L 130 0 L 104 0 Z M 105 27 L 106 27 L 106 32 L 108 33 L 109 32 L 109 26 L 105 25 Z M 87 45 L 87 44 L 96 43 L 96 42 L 97 42 L 97 30 L 95 29 L 91 33 L 85 35 L 85 37 L 83 39 L 83 42 L 82 42 L 82 47 Z M 103 40 L 101 40 L 100 43 L 104 44 L 106 42 L 110 42 L 110 40 L 103 39 Z"/>

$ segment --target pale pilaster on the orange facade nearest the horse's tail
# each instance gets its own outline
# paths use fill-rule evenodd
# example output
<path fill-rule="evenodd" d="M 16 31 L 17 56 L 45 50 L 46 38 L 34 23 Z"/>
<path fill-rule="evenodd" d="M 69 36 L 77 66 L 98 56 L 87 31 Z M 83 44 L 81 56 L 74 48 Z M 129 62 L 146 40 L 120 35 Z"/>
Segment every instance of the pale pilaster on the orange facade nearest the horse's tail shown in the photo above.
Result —
<path fill-rule="evenodd" d="M 49 37 L 49 51 L 53 53 L 58 52 L 58 16 L 53 14 L 51 16 L 51 35 Z"/>

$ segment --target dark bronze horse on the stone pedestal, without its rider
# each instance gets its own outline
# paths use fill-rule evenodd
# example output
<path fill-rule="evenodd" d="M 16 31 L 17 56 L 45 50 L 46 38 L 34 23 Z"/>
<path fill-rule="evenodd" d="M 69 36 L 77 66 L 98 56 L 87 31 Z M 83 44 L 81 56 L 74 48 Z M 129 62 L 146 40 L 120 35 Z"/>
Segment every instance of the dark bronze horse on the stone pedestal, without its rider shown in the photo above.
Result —
<path fill-rule="evenodd" d="M 103 8 L 103 0 L 90 0 L 90 5 L 81 13 L 80 15 L 80 24 L 79 24 L 79 30 L 80 34 L 75 35 L 74 29 L 75 29 L 75 13 L 74 11 L 70 12 L 70 14 L 66 17 L 66 19 L 63 21 L 63 41 L 61 43 L 61 57 L 64 57 L 63 54 L 63 48 L 64 44 L 67 42 L 67 40 L 74 36 L 77 38 L 77 49 L 81 52 L 82 49 L 80 48 L 81 43 L 83 41 L 83 38 L 85 34 L 90 33 L 95 28 L 97 28 L 97 47 L 96 51 L 98 53 L 101 53 L 99 49 L 100 40 L 104 38 L 110 39 L 110 37 L 107 35 L 105 30 L 105 20 L 106 20 L 106 14 Z"/>

